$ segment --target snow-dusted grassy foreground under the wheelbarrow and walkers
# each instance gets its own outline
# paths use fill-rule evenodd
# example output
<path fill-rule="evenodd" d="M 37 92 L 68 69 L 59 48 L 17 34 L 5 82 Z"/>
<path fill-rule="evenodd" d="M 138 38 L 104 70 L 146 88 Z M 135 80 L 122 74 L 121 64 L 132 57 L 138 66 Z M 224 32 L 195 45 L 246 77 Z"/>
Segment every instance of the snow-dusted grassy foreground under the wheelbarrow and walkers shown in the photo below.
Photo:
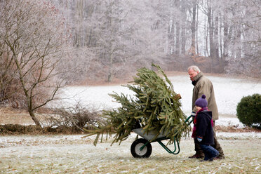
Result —
<path fill-rule="evenodd" d="M 239 133 L 240 134 L 240 133 Z M 94 136 L 19 135 L 0 139 L 1 173 L 261 173 L 260 134 L 234 133 L 218 136 L 225 159 L 200 162 L 188 159 L 194 153 L 192 138 L 182 138 L 180 153 L 168 154 L 157 142 L 152 143 L 148 159 L 131 155 L 131 134 L 121 145 L 107 142 L 93 145 Z M 237 135 L 236 135 L 237 136 Z M 164 142 L 166 143 L 166 142 Z M 174 149 L 173 145 L 168 146 Z"/>

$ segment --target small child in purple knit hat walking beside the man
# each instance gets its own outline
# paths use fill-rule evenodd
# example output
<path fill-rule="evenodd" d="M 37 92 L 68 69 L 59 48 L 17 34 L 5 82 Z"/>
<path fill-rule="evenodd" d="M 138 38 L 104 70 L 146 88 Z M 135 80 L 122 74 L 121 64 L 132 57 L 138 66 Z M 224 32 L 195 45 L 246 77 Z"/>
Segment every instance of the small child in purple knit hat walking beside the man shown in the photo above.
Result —
<path fill-rule="evenodd" d="M 208 111 L 206 95 L 197 99 L 195 105 L 197 112 L 194 118 L 192 138 L 199 143 L 205 154 L 203 161 L 213 161 L 219 155 L 219 152 L 211 146 L 214 145 L 213 120 L 212 112 Z"/>

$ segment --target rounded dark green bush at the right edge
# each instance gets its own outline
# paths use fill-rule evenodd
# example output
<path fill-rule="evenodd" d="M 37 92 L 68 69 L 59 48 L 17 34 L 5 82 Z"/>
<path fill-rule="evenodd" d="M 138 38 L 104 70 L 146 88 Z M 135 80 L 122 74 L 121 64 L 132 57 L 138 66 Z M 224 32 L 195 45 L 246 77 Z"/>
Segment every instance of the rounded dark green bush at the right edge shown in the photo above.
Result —
<path fill-rule="evenodd" d="M 236 106 L 237 117 L 246 126 L 261 129 L 261 95 L 243 97 Z"/>

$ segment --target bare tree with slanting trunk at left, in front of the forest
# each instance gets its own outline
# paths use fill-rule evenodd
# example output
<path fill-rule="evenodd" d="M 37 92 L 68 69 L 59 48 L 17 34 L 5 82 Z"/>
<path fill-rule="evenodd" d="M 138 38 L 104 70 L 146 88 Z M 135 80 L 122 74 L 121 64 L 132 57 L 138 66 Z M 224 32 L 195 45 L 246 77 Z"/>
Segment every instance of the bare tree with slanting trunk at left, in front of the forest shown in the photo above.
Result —
<path fill-rule="evenodd" d="M 34 112 L 55 100 L 63 81 L 55 71 L 62 59 L 65 31 L 59 11 L 43 1 L 8 0 L 1 5 L 1 43 L 15 62 L 27 110 Z"/>

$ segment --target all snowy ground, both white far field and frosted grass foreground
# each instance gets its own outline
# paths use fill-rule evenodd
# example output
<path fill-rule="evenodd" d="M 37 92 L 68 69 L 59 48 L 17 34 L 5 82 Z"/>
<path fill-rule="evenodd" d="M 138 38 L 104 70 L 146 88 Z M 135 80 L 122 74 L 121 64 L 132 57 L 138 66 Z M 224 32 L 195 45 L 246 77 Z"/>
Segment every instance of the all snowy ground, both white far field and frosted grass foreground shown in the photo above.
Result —
<path fill-rule="evenodd" d="M 222 126 L 243 127 L 236 118 L 236 105 L 243 96 L 260 93 L 258 81 L 208 76 L 213 81 Z M 176 93 L 182 95 L 182 109 L 191 112 L 192 84 L 188 76 L 170 76 Z M 68 87 L 64 96 L 67 105 L 81 101 L 88 107 L 119 107 L 108 93 L 132 95 L 123 86 Z M 131 143 L 135 133 L 111 146 L 112 138 L 95 147 L 95 136 L 83 135 L 8 135 L 0 137 L 0 173 L 261 173 L 261 133 L 217 132 L 225 159 L 200 162 L 188 159 L 194 154 L 192 138 L 182 138 L 180 153 L 168 154 L 157 142 L 152 143 L 148 159 L 135 159 Z M 166 143 L 166 142 L 164 142 Z M 168 148 L 174 149 L 173 145 Z"/>

